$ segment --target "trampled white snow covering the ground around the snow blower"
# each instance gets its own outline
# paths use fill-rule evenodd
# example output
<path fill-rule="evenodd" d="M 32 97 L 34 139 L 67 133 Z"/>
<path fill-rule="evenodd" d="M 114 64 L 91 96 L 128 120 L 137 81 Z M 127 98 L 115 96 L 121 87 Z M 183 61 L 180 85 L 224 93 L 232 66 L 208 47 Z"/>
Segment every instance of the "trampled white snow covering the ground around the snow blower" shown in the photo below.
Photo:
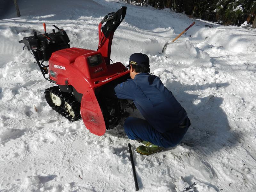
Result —
<path fill-rule="evenodd" d="M 116 1 L 19 1 L 0 20 L 0 192 L 135 191 L 127 143 L 132 144 L 140 191 L 175 191 L 183 176 L 195 192 L 255 191 L 256 30 L 189 19 L 186 15 Z M 135 152 L 121 123 L 99 137 L 83 121 L 53 111 L 32 55 L 18 41 L 52 25 L 66 30 L 71 47 L 96 50 L 98 23 L 127 6 L 111 59 L 126 65 L 143 52 L 150 69 L 191 120 L 182 142 L 151 156 Z M 193 21 L 196 24 L 159 54 Z M 213 28 L 205 27 L 213 26 Z M 37 112 L 34 110 L 37 108 Z M 138 116 L 135 111 L 133 116 Z"/>

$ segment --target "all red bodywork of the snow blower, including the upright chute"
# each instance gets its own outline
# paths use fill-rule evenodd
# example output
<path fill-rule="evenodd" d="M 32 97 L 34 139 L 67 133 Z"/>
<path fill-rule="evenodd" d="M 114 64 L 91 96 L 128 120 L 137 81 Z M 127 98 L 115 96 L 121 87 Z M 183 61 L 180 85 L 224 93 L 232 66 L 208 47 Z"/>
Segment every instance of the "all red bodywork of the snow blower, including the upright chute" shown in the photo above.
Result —
<path fill-rule="evenodd" d="M 72 85 L 76 92 L 83 94 L 80 109 L 82 119 L 86 128 L 99 136 L 106 132 L 106 124 L 97 94 L 103 85 L 130 77 L 129 70 L 122 63 L 110 64 L 113 35 L 125 13 L 126 7 L 122 7 L 117 12 L 106 15 L 100 22 L 97 51 L 67 48 L 53 52 L 49 60 L 51 81 L 58 85 Z M 92 57 L 98 56 L 102 60 L 99 59 L 96 64 L 90 63 Z"/>

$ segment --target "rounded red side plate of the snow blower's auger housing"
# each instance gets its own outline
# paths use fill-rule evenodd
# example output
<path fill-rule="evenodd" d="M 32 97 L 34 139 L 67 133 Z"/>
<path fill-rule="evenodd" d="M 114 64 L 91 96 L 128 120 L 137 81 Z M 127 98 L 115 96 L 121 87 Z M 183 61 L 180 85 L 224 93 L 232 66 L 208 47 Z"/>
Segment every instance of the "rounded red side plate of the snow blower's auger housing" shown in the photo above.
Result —
<path fill-rule="evenodd" d="M 92 88 L 88 88 L 81 101 L 81 116 L 89 131 L 95 135 L 104 135 L 106 125 L 100 105 Z"/>

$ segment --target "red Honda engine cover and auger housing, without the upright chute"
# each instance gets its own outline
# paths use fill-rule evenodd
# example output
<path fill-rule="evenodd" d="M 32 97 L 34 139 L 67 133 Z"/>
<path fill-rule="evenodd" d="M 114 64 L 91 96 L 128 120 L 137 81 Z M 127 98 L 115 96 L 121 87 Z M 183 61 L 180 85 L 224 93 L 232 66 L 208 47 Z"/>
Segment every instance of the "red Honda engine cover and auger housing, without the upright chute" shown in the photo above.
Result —
<path fill-rule="evenodd" d="M 130 76 L 120 62 L 106 65 L 103 59 L 100 65 L 89 66 L 88 57 L 98 54 L 100 52 L 80 48 L 56 51 L 49 60 L 49 71 L 50 79 L 56 84 L 72 85 L 83 93 L 80 112 L 84 124 L 90 132 L 101 136 L 106 132 L 106 125 L 96 95 L 105 84 Z"/>

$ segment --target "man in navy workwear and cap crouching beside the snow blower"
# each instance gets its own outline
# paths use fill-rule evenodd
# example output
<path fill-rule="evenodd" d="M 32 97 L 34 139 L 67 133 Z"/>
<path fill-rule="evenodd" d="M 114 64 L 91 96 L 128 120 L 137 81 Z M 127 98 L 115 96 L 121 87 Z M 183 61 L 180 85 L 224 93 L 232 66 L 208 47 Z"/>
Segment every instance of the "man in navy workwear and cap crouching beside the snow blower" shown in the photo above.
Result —
<path fill-rule="evenodd" d="M 131 79 L 118 84 L 115 93 L 119 99 L 133 100 L 145 118 L 128 117 L 124 122 L 129 139 L 144 144 L 137 152 L 150 155 L 177 145 L 190 126 L 185 109 L 157 76 L 149 74 L 147 55 L 132 54 L 127 67 Z"/>

